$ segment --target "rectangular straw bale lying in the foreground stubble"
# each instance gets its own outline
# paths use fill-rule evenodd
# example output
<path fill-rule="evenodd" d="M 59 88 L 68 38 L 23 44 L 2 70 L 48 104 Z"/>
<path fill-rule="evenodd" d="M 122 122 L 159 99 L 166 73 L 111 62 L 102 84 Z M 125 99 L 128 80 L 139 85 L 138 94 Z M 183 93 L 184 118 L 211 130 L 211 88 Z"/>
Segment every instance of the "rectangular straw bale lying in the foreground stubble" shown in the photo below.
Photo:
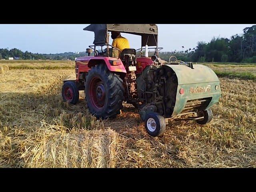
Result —
<path fill-rule="evenodd" d="M 112 168 L 115 167 L 116 133 L 113 130 L 72 129 L 42 122 L 34 136 L 21 142 L 25 167 Z"/>

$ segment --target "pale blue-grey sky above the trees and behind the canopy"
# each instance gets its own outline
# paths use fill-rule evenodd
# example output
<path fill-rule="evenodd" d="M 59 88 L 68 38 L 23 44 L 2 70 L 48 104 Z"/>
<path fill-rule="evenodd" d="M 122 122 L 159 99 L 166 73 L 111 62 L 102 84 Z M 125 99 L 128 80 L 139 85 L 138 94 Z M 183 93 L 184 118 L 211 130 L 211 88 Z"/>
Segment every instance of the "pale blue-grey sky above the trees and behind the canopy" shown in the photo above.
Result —
<path fill-rule="evenodd" d="M 32 53 L 85 51 L 93 44 L 94 33 L 84 31 L 89 24 L 0 24 L 0 48 L 18 48 Z M 196 47 L 212 37 L 230 38 L 254 24 L 158 24 L 158 46 L 162 51 Z M 140 36 L 122 34 L 131 48 L 140 48 Z"/>

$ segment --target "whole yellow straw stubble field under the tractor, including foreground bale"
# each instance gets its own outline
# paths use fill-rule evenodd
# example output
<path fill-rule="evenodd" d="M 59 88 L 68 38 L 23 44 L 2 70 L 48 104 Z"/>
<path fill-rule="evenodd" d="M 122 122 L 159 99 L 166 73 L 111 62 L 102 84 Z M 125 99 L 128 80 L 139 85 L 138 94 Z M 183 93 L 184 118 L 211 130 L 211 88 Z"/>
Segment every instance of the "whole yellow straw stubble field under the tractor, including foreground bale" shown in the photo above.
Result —
<path fill-rule="evenodd" d="M 220 78 L 209 124 L 172 120 L 152 138 L 132 105 L 124 103 L 116 119 L 96 120 L 83 91 L 77 105 L 64 103 L 62 80 L 74 69 L 47 65 L 12 63 L 0 74 L 0 167 L 256 167 L 254 80 Z"/>

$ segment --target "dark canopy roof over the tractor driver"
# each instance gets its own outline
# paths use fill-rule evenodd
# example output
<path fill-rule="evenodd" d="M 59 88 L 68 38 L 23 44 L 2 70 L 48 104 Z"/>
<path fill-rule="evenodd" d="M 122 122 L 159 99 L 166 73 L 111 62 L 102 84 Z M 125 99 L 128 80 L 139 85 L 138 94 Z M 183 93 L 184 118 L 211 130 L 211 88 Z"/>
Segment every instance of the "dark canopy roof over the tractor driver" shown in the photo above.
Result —
<path fill-rule="evenodd" d="M 94 45 L 108 44 L 108 32 L 111 31 L 140 35 L 141 46 L 157 46 L 158 43 L 156 24 L 90 24 L 84 30 L 94 32 Z"/>

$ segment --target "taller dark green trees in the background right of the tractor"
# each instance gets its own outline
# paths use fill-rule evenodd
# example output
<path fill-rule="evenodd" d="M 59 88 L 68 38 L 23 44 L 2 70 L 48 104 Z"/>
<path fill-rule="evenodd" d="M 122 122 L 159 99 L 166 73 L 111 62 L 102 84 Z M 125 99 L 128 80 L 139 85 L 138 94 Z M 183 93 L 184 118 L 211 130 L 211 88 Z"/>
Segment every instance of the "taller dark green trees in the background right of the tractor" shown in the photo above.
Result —
<path fill-rule="evenodd" d="M 196 48 L 160 52 L 160 58 L 164 60 L 169 60 L 171 55 L 185 62 L 256 63 L 256 25 L 244 28 L 243 34 L 233 35 L 230 39 L 214 37 L 208 43 L 198 42 Z"/>

